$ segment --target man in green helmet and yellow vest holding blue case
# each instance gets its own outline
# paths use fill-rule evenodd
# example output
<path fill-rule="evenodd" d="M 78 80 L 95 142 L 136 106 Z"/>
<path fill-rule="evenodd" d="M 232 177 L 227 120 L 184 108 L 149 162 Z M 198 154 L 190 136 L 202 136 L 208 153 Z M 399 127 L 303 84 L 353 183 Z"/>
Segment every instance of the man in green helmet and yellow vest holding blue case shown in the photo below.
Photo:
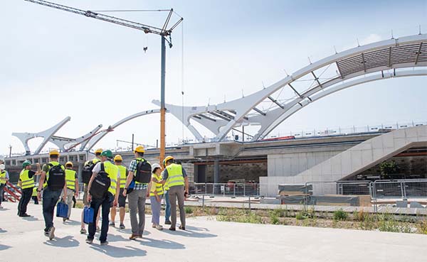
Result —
<path fill-rule="evenodd" d="M 103 170 L 102 170 L 103 167 Z M 117 184 L 120 181 L 120 170 L 117 168 L 117 165 L 112 163 L 112 152 L 110 150 L 102 151 L 101 153 L 101 162 L 97 163 L 93 168 L 93 175 L 90 178 L 88 185 L 88 202 L 90 202 L 90 207 L 93 208 L 93 214 L 97 214 L 100 207 L 102 207 L 102 225 L 101 225 L 101 235 L 100 242 L 101 246 L 107 245 L 107 234 L 108 234 L 108 217 L 110 214 L 110 207 L 116 207 L 119 193 L 120 185 Z M 108 188 L 107 194 L 102 198 L 96 199 L 90 195 L 90 187 L 92 186 L 95 177 L 100 171 L 105 171 L 110 178 L 110 187 Z M 96 217 L 93 217 L 93 222 L 89 224 L 89 234 L 86 239 L 86 243 L 92 244 L 96 231 Z"/>

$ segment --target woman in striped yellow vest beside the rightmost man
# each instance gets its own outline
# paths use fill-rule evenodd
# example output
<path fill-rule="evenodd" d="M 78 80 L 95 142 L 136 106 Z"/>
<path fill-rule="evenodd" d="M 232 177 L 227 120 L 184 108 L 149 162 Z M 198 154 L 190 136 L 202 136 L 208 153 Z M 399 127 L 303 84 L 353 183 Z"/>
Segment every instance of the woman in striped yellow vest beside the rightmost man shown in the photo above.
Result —
<path fill-rule="evenodd" d="M 160 225 L 160 209 L 162 207 L 163 197 L 163 184 L 162 182 L 162 168 L 159 164 L 152 165 L 152 181 L 148 185 L 149 202 L 152 207 L 152 227 L 155 229 L 163 230 Z"/>

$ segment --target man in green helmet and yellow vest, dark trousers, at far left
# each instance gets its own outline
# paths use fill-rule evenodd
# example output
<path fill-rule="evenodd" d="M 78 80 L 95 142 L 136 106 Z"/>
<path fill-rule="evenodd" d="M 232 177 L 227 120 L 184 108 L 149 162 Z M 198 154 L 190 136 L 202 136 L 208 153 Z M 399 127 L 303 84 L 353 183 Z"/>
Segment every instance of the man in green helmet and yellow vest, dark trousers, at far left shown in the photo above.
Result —
<path fill-rule="evenodd" d="M 36 175 L 40 175 L 40 164 L 36 163 L 37 172 L 31 170 L 31 162 L 28 160 L 23 161 L 22 168 L 23 170 L 19 174 L 19 182 L 21 184 L 22 195 L 18 204 L 18 216 L 19 217 L 31 217 L 26 213 L 28 202 L 31 200 L 31 195 L 33 195 L 34 187 L 34 178 Z"/>

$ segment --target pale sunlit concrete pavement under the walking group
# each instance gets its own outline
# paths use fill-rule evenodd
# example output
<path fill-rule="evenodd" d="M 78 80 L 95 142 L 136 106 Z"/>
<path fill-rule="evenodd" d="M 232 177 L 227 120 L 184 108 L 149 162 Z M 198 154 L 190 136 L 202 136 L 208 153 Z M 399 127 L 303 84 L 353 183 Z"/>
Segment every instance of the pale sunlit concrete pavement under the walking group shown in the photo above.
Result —
<path fill-rule="evenodd" d="M 41 206 L 28 205 L 33 217 L 16 216 L 16 204 L 0 209 L 0 261 L 411 261 L 425 262 L 427 236 L 348 229 L 216 222 L 191 218 L 187 231 L 157 231 L 130 241 L 127 229 L 110 228 L 108 246 L 89 245 L 80 231 L 80 212 L 70 222 L 55 219 L 56 239 L 43 236 Z M 128 216 L 126 217 L 128 218 Z M 151 219 L 147 216 L 147 219 Z M 95 234 L 95 239 L 99 234 Z M 24 251 L 24 252 L 23 252 Z M 46 256 L 49 253 L 52 256 Z M 143 259 L 143 260 L 142 260 Z"/>

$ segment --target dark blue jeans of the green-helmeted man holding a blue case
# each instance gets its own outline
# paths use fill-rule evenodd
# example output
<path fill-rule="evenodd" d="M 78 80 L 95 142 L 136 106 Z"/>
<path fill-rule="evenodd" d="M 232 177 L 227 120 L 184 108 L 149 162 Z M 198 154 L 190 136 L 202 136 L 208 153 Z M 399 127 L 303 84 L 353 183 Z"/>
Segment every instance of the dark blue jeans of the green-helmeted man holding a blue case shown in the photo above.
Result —
<path fill-rule="evenodd" d="M 110 207 L 111 203 L 114 200 L 114 196 L 107 192 L 107 195 L 105 195 L 102 199 L 92 199 L 92 202 L 90 202 L 90 207 L 93 208 L 93 222 L 89 224 L 89 234 L 88 239 L 93 239 L 95 236 L 96 231 L 96 217 L 97 212 L 100 210 L 100 207 L 102 207 L 102 225 L 101 225 L 101 235 L 100 235 L 100 241 L 104 242 L 107 241 L 107 234 L 108 234 L 108 216 L 110 215 Z"/>

